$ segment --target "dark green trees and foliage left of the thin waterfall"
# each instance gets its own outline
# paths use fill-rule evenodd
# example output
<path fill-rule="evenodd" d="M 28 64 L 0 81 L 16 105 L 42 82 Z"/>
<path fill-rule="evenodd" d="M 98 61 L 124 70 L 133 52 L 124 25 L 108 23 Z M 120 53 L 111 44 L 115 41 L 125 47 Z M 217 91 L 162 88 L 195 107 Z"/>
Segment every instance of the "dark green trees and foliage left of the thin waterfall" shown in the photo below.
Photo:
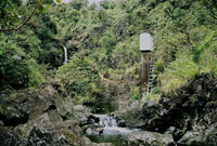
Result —
<path fill-rule="evenodd" d="M 46 16 L 42 3 L 26 25 L 13 29 L 24 24 L 36 2 L 0 2 L 0 91 L 36 87 L 44 81 L 50 69 L 62 65 L 62 44 L 54 39 L 56 26 Z"/>

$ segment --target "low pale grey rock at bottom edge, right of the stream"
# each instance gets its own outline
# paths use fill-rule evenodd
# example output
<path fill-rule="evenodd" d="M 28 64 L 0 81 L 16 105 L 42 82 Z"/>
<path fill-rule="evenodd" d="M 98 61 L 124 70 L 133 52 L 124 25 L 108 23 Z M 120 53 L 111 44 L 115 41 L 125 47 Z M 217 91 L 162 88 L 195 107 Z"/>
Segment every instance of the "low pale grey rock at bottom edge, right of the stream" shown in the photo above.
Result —
<path fill-rule="evenodd" d="M 125 146 L 176 146 L 171 134 L 135 132 L 125 138 Z"/>

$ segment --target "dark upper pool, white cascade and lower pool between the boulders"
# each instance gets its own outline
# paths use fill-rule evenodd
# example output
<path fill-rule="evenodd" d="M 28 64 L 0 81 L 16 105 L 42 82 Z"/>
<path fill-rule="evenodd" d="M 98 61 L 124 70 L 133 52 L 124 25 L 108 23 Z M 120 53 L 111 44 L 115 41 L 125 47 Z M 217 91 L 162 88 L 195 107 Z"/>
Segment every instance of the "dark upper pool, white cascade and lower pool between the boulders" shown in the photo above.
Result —
<path fill-rule="evenodd" d="M 100 121 L 93 125 L 97 128 L 103 128 L 103 132 L 99 135 L 91 134 L 91 132 L 86 133 L 87 137 L 89 137 L 93 143 L 112 143 L 114 146 L 124 146 L 124 138 L 129 133 L 138 131 L 136 129 L 131 130 L 128 128 L 117 127 L 116 119 L 106 115 L 117 109 L 114 104 L 98 101 L 95 104 L 89 104 L 86 106 L 90 107 L 94 117 L 100 119 Z"/>

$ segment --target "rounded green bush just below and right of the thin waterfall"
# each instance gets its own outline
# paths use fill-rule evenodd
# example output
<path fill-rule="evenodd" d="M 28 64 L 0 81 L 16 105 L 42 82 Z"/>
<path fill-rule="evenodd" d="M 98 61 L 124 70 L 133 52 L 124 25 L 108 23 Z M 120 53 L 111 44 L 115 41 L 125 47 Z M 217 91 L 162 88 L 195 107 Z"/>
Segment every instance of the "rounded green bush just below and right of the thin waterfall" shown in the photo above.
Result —
<path fill-rule="evenodd" d="M 56 78 L 77 104 L 93 102 L 101 96 L 98 70 L 84 57 L 75 56 L 67 65 L 60 67 Z"/>

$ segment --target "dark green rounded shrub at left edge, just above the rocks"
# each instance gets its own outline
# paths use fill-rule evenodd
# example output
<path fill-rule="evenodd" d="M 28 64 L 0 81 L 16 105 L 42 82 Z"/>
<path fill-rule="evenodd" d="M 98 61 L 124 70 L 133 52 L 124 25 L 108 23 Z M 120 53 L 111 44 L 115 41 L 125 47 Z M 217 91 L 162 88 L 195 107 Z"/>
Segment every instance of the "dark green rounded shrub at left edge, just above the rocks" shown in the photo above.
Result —
<path fill-rule="evenodd" d="M 35 87 L 42 81 L 37 63 L 30 63 L 21 48 L 9 41 L 0 43 L 0 90 Z M 36 76 L 37 75 L 37 76 Z"/>

